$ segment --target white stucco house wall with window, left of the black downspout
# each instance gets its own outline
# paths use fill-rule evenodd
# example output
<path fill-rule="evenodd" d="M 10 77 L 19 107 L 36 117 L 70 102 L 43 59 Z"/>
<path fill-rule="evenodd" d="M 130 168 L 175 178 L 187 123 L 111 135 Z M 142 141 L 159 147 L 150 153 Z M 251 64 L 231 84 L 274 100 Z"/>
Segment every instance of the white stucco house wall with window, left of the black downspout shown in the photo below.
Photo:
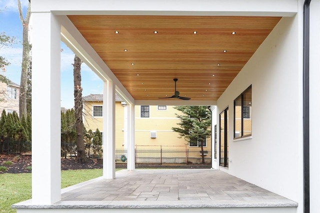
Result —
<path fill-rule="evenodd" d="M 218 113 L 229 106 L 227 172 L 298 202 L 299 208 L 303 207 L 301 17 L 279 21 L 217 103 Z M 233 100 L 250 84 L 252 137 L 233 141 Z"/>

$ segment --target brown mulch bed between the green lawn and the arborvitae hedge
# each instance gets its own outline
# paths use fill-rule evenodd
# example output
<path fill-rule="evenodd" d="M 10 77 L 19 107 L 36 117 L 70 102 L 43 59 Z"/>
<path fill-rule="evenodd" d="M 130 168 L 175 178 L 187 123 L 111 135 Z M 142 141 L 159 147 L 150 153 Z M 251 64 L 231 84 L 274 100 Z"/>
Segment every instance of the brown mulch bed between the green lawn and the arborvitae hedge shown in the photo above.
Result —
<path fill-rule="evenodd" d="M 5 165 L 4 162 L 12 162 L 12 165 Z M 29 155 L 2 155 L 0 154 L 0 166 L 7 168 L 2 173 L 31 173 L 31 156 Z M 61 159 L 61 170 L 80 170 L 80 169 L 100 169 L 102 160 L 87 159 L 84 164 L 78 163 L 74 158 Z"/>

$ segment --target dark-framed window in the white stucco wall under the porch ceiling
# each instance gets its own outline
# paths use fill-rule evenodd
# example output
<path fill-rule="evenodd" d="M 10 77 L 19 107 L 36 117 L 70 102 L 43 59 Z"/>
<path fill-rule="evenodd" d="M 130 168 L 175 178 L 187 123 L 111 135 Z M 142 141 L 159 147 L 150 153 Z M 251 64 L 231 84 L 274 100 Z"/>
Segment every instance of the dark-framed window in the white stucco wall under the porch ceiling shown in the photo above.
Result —
<path fill-rule="evenodd" d="M 251 136 L 252 133 L 252 97 L 251 85 L 234 100 L 233 138 Z"/>

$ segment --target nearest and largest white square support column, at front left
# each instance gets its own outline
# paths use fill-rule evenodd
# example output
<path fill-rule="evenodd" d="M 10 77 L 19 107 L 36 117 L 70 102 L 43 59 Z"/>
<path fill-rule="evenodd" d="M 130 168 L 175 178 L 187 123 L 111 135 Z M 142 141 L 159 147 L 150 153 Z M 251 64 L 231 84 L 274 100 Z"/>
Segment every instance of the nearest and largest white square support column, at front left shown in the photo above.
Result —
<path fill-rule="evenodd" d="M 60 23 L 32 13 L 32 204 L 61 200 Z"/>

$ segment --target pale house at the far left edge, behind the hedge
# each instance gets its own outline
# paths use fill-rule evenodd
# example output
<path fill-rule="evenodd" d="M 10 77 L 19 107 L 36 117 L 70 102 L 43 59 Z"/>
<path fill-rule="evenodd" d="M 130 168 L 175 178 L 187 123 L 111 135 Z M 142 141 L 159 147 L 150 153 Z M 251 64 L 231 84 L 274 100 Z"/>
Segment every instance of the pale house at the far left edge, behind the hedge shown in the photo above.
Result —
<path fill-rule="evenodd" d="M 6 113 L 15 111 L 19 114 L 19 91 L 20 86 L 10 80 L 0 81 L 0 113 L 4 109 Z"/>

